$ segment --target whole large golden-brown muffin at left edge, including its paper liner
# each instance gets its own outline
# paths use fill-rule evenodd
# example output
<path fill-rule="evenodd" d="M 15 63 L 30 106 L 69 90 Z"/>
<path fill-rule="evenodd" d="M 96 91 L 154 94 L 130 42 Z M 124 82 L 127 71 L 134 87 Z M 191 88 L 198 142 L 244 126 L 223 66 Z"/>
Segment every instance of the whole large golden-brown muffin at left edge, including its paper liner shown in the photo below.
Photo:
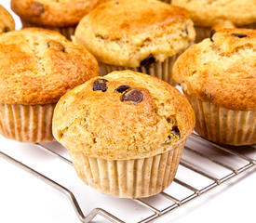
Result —
<path fill-rule="evenodd" d="M 52 141 L 56 102 L 98 74 L 96 59 L 55 31 L 27 28 L 0 35 L 0 134 Z"/>

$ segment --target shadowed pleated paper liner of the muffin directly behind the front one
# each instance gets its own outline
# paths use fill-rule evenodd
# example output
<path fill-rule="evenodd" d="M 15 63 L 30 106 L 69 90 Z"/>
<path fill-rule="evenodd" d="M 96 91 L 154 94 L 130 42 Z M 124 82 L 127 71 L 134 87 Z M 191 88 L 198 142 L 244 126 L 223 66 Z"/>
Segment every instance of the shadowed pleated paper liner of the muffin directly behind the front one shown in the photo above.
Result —
<path fill-rule="evenodd" d="M 101 62 L 99 63 L 99 65 L 102 76 L 108 74 L 109 72 L 131 70 L 134 72 L 143 72 L 158 77 L 159 79 L 167 82 L 170 85 L 177 85 L 177 83 L 172 79 L 171 71 L 174 62 L 179 57 L 179 55 L 180 54 L 176 54 L 168 59 L 165 59 L 163 62 L 155 62 L 151 64 L 150 67 L 122 67 Z"/>

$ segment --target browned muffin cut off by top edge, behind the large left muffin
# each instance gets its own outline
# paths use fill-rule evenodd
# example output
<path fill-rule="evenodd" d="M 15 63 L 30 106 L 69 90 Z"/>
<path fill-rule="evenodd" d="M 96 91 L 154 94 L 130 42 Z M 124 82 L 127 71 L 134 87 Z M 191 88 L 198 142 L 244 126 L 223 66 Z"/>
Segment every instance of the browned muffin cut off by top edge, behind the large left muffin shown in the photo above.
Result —
<path fill-rule="evenodd" d="M 56 30 L 70 38 L 74 29 L 100 0 L 11 0 L 12 10 L 20 16 L 23 27 Z"/>

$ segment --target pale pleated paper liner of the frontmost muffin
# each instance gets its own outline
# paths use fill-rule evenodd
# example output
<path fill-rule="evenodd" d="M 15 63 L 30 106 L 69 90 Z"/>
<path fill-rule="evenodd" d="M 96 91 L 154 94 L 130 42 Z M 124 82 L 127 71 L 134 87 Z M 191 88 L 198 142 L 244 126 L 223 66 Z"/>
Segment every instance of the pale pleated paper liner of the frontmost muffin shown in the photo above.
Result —
<path fill-rule="evenodd" d="M 184 142 L 176 148 L 144 159 L 108 161 L 70 152 L 78 176 L 102 193 L 122 198 L 155 195 L 168 188 L 176 175 Z"/>

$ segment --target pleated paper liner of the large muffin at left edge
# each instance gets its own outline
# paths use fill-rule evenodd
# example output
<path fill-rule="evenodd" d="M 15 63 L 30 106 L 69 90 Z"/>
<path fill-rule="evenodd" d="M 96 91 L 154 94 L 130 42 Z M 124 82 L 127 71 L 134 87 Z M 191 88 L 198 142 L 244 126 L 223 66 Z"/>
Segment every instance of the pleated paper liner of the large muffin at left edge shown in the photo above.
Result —
<path fill-rule="evenodd" d="M 0 104 L 0 134 L 21 142 L 53 141 L 51 132 L 55 104 Z"/>

